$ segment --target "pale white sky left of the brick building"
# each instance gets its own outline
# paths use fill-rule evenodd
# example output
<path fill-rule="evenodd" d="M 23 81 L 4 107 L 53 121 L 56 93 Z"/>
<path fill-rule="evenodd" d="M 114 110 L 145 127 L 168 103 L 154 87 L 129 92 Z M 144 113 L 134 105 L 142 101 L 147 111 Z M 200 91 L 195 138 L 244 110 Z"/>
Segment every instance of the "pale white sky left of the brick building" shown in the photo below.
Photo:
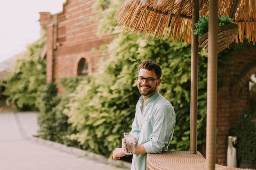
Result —
<path fill-rule="evenodd" d="M 39 12 L 59 13 L 66 0 L 6 0 L 0 5 L 0 63 L 40 38 Z"/>

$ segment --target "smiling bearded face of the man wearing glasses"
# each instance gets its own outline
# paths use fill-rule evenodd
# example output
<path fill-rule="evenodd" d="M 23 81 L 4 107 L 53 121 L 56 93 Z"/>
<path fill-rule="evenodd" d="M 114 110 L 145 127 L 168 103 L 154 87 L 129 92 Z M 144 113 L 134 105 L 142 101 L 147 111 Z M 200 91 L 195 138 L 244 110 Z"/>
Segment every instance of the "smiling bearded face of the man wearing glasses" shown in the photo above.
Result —
<path fill-rule="evenodd" d="M 144 97 L 148 98 L 157 92 L 157 86 L 159 86 L 161 79 L 156 79 L 157 76 L 155 75 L 155 70 L 148 71 L 147 69 L 141 68 L 139 70 L 139 77 L 143 78 L 152 78 L 155 79 L 152 84 L 148 84 L 146 79 L 144 82 L 140 83 L 137 82 L 137 87 L 139 89 L 139 93 Z M 144 98 L 144 99 L 146 99 Z"/>

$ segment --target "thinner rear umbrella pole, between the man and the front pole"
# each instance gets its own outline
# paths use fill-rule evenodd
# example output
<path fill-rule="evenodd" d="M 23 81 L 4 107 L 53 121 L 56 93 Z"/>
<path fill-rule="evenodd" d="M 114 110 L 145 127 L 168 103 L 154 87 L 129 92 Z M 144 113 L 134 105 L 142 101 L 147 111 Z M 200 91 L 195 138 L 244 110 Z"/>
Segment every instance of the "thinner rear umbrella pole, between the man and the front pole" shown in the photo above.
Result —
<path fill-rule="evenodd" d="M 195 23 L 199 18 L 199 0 L 192 4 L 192 41 L 191 41 L 191 96 L 190 96 L 190 153 L 196 154 L 197 112 L 198 112 L 198 35 L 194 35 Z"/>

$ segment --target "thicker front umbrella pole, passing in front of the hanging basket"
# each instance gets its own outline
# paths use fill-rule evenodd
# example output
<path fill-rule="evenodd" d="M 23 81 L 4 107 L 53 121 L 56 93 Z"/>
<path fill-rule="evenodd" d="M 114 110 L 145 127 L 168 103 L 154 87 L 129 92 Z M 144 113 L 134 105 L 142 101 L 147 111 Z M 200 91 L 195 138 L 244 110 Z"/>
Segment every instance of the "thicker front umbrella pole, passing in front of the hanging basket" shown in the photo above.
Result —
<path fill-rule="evenodd" d="M 209 0 L 209 41 L 207 69 L 207 126 L 206 163 L 207 170 L 215 170 L 216 164 L 216 113 L 217 113 L 217 43 L 218 1 Z"/>

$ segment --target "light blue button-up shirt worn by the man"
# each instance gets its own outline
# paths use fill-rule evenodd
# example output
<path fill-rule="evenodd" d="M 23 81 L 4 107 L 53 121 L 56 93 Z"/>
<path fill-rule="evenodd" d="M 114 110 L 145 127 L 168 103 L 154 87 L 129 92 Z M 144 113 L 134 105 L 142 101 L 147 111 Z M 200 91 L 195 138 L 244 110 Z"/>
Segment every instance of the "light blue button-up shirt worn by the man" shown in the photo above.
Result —
<path fill-rule="evenodd" d="M 166 151 L 176 122 L 173 106 L 159 91 L 146 99 L 144 111 L 143 101 L 141 96 L 131 130 L 137 139 L 137 146 L 144 144 L 147 153 Z M 146 170 L 146 154 L 133 155 L 131 170 Z"/>

